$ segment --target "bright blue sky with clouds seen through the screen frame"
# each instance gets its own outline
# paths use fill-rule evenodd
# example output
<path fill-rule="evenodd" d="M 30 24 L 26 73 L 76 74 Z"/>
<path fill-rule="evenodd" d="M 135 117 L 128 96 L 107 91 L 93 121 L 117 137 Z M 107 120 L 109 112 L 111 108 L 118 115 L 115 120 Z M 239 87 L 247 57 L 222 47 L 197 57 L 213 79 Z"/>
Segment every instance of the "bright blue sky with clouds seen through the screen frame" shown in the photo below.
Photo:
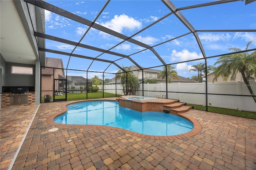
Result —
<path fill-rule="evenodd" d="M 106 3 L 106 1 L 102 0 L 46 0 L 46 2 L 90 21 L 94 21 L 98 12 L 100 12 Z M 177 8 L 207 2 L 212 1 L 172 1 Z M 180 12 L 195 30 L 256 30 L 256 2 L 245 5 L 244 1 L 238 1 L 181 10 Z M 168 13 L 170 13 L 170 10 L 160 0 L 112 0 L 97 18 L 96 23 L 126 36 L 132 36 Z M 78 42 L 88 29 L 88 26 L 45 11 L 45 28 L 46 34 Z M 154 46 L 188 32 L 188 28 L 172 14 L 154 26 L 135 35 L 133 39 Z M 256 39 L 256 32 L 198 32 L 198 36 L 206 56 L 209 57 L 228 53 L 228 49 L 232 47 L 245 49 L 249 41 Z M 108 50 L 121 41 L 122 40 L 119 38 L 91 28 L 81 43 Z M 46 48 L 70 53 L 74 49 L 74 46 L 46 40 Z M 256 40 L 251 43 L 250 49 L 252 48 L 256 48 Z M 141 51 L 143 49 L 143 47 L 133 43 L 124 42 L 110 51 L 130 55 L 130 57 L 142 67 L 162 65 L 161 61 L 152 51 Z M 203 56 L 193 34 L 188 34 L 168 43 L 158 45 L 154 47 L 154 49 L 167 64 L 198 59 Z M 141 52 L 137 53 L 138 51 Z M 126 58 L 122 59 L 121 57 L 110 54 L 100 55 L 101 52 L 80 47 L 77 47 L 74 53 L 89 57 L 98 56 L 100 59 L 119 59 L 116 63 L 121 66 L 134 65 L 134 63 Z M 67 67 L 68 56 L 46 53 L 46 57 L 61 58 L 64 63 L 64 68 Z M 213 65 L 216 59 L 218 58 L 208 59 L 208 65 Z M 175 67 L 178 75 L 191 77 L 192 75 L 196 75 L 196 72 L 189 71 L 191 65 L 196 65 L 200 62 L 204 61 L 179 63 L 172 66 Z M 118 67 L 113 64 L 110 65 L 109 63 L 100 61 L 94 61 L 92 63 L 91 60 L 77 57 L 71 57 L 68 69 L 88 69 L 89 71 L 105 71 L 107 73 L 116 73 L 119 70 Z M 162 69 L 162 67 L 156 67 L 155 69 Z M 68 74 L 86 77 L 85 73 L 79 71 L 68 71 Z M 89 73 L 88 78 L 94 75 L 102 76 L 100 73 Z M 114 75 L 105 74 L 105 77 L 112 78 Z"/>

